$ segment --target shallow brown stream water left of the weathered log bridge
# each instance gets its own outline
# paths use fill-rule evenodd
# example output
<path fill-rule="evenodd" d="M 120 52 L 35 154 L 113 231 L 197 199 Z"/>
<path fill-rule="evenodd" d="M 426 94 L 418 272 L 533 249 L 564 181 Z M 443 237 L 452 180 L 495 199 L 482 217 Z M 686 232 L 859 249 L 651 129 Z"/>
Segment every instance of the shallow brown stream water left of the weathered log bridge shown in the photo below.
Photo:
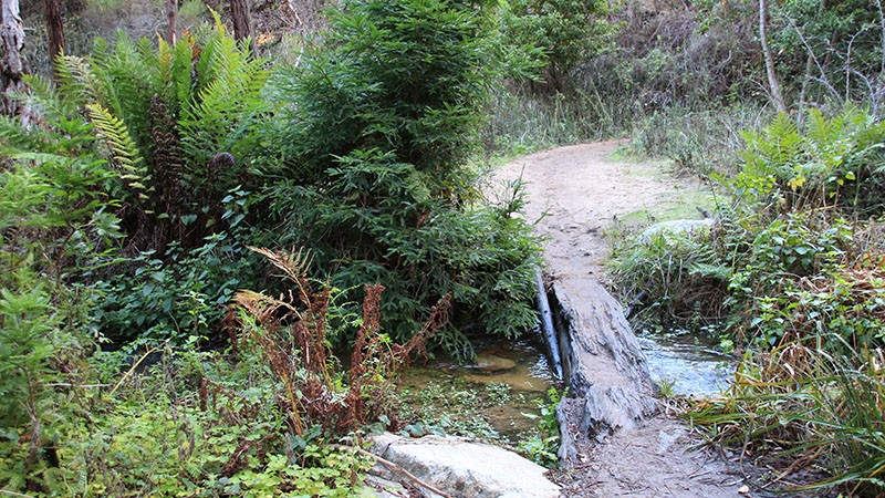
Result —
<path fill-rule="evenodd" d="M 503 341 L 478 347 L 475 365 L 413 366 L 402 391 L 428 424 L 442 425 L 446 433 L 517 444 L 537 432 L 539 402 L 548 391 L 562 387 L 541 347 L 535 340 Z M 431 406 L 420 406 L 426 403 Z"/>

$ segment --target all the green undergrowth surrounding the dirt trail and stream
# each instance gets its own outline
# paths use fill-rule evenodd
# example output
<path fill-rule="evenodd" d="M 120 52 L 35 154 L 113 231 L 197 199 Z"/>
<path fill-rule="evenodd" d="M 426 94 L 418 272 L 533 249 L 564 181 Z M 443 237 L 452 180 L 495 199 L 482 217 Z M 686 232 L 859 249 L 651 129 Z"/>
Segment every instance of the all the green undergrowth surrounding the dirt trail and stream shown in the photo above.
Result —
<path fill-rule="evenodd" d="M 259 2 L 254 43 L 222 2 L 169 43 L 140 38 L 159 2 L 83 0 L 54 64 L 33 3 L 0 121 L 3 492 L 352 496 L 409 353 L 534 324 L 541 242 L 483 169 L 622 137 L 716 191 L 709 232 L 616 253 L 646 318 L 741 355 L 686 417 L 770 486 L 883 492 L 877 2 L 769 6 L 785 102 L 750 0 L 347 0 L 309 33 Z"/>

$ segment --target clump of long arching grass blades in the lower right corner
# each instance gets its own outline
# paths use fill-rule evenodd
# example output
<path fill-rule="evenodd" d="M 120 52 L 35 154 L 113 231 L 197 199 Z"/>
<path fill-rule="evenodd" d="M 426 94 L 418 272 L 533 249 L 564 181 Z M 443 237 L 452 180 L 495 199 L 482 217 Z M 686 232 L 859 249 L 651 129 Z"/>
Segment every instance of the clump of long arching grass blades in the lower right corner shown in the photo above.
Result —
<path fill-rule="evenodd" d="M 827 343 L 839 343 L 843 354 Z M 748 354 L 723 396 L 696 403 L 686 417 L 715 443 L 739 447 L 742 458 L 764 455 L 779 469 L 767 486 L 883 496 L 883 366 L 882 349 L 809 336 Z"/>

